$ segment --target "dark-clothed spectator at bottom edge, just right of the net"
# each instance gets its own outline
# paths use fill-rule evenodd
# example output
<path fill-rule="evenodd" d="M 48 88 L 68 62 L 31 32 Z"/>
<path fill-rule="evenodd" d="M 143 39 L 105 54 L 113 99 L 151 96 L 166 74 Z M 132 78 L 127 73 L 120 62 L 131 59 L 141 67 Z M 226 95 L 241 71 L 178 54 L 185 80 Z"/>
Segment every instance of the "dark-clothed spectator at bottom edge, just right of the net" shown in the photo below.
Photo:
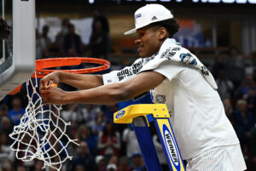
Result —
<path fill-rule="evenodd" d="M 69 171 L 73 171 L 77 166 L 83 166 L 86 170 L 96 171 L 96 163 L 90 155 L 90 151 L 86 142 L 81 141 L 79 145 L 79 154 L 74 157 L 73 161 L 68 166 Z"/>

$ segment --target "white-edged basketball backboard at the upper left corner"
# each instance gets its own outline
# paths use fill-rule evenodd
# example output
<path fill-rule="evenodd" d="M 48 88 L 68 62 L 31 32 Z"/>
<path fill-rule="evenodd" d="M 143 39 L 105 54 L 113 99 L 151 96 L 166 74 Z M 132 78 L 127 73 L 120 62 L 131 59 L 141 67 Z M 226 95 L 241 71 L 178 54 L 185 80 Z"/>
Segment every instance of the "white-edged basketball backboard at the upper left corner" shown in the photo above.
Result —
<path fill-rule="evenodd" d="M 32 76 L 35 70 L 35 0 L 0 0 L 1 16 L 12 26 L 0 40 L 0 100 Z"/>

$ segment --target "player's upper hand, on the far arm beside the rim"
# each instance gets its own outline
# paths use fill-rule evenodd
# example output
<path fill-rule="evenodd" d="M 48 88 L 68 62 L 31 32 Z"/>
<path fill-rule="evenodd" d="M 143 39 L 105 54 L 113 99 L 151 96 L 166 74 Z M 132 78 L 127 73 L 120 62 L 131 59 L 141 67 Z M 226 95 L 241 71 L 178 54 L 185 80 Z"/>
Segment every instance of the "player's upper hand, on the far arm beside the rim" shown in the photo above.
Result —
<path fill-rule="evenodd" d="M 48 88 L 50 84 L 58 84 L 60 82 L 60 71 L 54 71 L 40 80 L 40 90 Z"/>

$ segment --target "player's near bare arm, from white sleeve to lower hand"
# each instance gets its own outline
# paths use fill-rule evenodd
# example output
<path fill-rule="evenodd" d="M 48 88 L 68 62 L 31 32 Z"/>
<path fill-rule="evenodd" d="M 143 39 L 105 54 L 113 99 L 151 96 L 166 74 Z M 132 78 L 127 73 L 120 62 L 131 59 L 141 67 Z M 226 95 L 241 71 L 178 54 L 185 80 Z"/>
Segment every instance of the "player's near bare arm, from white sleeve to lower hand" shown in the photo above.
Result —
<path fill-rule="evenodd" d="M 44 103 L 52 104 L 115 104 L 120 101 L 143 94 L 149 89 L 157 87 L 166 77 L 155 71 L 144 71 L 136 77 L 123 83 L 111 83 L 97 88 L 90 88 L 74 92 L 66 92 L 61 88 L 49 87 L 41 89 Z"/>

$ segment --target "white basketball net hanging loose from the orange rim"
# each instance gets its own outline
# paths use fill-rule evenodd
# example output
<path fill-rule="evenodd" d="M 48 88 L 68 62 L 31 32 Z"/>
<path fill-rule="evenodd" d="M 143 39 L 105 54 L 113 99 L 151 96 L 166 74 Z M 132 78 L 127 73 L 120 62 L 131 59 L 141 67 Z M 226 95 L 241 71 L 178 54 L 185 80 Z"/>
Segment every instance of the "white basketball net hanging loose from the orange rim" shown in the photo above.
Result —
<path fill-rule="evenodd" d="M 61 169 L 63 162 L 72 159 L 67 153 L 67 145 L 76 143 L 66 134 L 67 125 L 60 117 L 61 106 L 44 105 L 32 79 L 26 82 L 28 105 L 26 113 L 20 118 L 20 125 L 15 126 L 10 138 L 15 140 L 11 149 L 16 157 L 24 162 L 38 159 L 44 161 L 44 168 L 49 166 Z M 32 91 L 32 92 L 31 92 Z"/>

